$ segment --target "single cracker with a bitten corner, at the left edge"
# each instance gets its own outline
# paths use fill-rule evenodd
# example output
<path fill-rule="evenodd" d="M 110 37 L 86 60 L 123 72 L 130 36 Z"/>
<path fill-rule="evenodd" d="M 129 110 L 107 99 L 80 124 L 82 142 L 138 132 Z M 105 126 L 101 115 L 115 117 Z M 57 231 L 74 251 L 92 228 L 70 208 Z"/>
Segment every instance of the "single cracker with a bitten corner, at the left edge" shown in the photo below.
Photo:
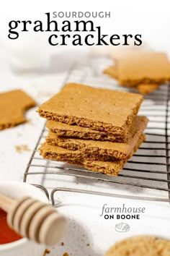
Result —
<path fill-rule="evenodd" d="M 35 106 L 35 101 L 22 90 L 0 93 L 0 130 L 27 121 L 24 111 Z"/>

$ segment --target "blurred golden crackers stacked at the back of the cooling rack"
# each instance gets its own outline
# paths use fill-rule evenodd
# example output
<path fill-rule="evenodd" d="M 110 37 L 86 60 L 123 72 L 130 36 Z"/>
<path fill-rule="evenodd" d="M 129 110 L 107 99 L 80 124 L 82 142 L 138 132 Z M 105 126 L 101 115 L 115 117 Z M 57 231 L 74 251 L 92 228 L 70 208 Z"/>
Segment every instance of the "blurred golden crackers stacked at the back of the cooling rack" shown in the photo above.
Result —
<path fill-rule="evenodd" d="M 104 74 L 109 74 L 120 85 L 148 94 L 170 80 L 170 63 L 164 53 L 130 51 L 115 59 L 115 65 L 104 69 Z"/>

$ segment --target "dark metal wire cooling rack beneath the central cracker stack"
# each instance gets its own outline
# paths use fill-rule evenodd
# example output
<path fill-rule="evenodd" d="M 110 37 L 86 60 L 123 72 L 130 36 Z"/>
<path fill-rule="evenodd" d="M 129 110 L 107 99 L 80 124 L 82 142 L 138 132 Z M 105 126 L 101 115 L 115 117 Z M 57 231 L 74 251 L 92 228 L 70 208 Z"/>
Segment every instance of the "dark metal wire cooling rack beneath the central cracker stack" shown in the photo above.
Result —
<path fill-rule="evenodd" d="M 81 82 L 97 88 L 135 92 L 135 90 L 120 87 L 115 80 L 102 74 L 102 69 L 107 64 L 109 64 L 109 60 L 104 58 L 86 59 L 82 63 L 74 64 L 69 72 L 66 73 L 62 84 L 64 85 L 66 82 Z M 29 179 L 32 177 L 31 183 L 35 184 L 35 176 L 42 176 L 41 182 L 36 186 L 45 190 L 46 195 L 50 197 L 53 204 L 55 204 L 55 192 L 59 191 L 170 202 L 169 96 L 169 84 L 162 85 L 155 92 L 145 96 L 145 101 L 139 114 L 148 116 L 150 120 L 146 129 L 146 141 L 143 142 L 117 177 L 43 159 L 39 155 L 38 148 L 48 133 L 44 125 L 24 172 L 24 182 L 28 182 L 28 177 Z M 62 186 L 58 186 L 61 177 L 62 181 L 66 179 L 66 182 Z M 71 187 L 68 187 L 68 177 L 76 178 L 76 180 L 73 180 Z M 43 185 L 45 184 L 45 179 L 50 179 L 51 181 L 55 179 L 55 184 L 50 186 L 50 193 Z M 86 182 L 81 183 L 79 182 L 80 180 L 81 182 L 82 180 Z M 77 183 L 80 185 L 79 189 L 76 188 Z M 83 188 L 83 183 L 88 184 L 86 189 Z M 95 187 L 96 184 L 99 184 L 99 187 Z M 89 187 L 90 185 L 91 187 Z"/>

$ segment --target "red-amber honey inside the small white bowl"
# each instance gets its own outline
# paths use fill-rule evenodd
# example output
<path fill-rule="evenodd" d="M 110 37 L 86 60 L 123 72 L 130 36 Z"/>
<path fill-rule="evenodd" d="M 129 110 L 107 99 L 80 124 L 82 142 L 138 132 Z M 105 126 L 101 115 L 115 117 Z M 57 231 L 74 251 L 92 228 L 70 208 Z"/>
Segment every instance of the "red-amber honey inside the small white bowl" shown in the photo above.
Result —
<path fill-rule="evenodd" d="M 0 208 L 0 244 L 8 244 L 19 239 L 22 239 L 22 236 L 9 228 L 6 213 Z"/>

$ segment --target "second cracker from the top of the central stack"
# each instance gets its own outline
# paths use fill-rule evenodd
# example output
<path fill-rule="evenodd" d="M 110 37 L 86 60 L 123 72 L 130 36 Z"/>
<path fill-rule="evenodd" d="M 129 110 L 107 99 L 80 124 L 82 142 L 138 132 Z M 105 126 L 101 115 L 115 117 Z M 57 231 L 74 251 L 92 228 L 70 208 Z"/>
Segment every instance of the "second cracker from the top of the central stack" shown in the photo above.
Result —
<path fill-rule="evenodd" d="M 88 127 L 80 127 L 79 125 L 64 124 L 59 121 L 48 120 L 46 127 L 58 136 L 78 137 L 86 140 L 128 142 L 128 137 L 114 135 L 112 132 L 97 131 Z"/>

